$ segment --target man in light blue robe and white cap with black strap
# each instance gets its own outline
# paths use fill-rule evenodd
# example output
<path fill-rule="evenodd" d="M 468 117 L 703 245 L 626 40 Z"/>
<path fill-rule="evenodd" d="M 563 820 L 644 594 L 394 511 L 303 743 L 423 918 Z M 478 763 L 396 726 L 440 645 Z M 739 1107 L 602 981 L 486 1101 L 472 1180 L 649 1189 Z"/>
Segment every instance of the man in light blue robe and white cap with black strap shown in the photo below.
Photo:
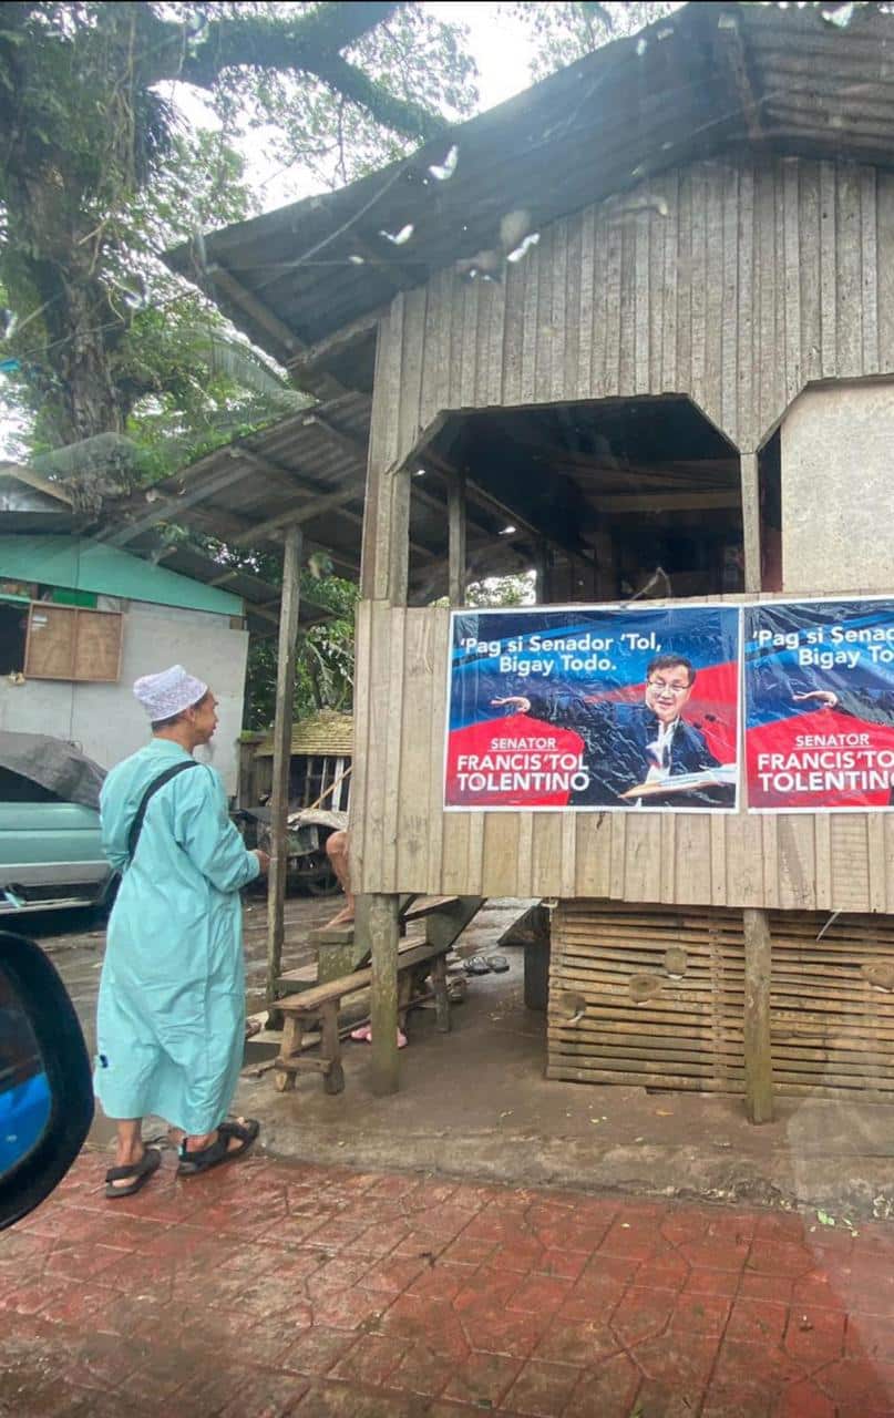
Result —
<path fill-rule="evenodd" d="M 180 1136 L 182 1174 L 240 1156 L 258 1132 L 226 1116 L 245 1027 L 238 892 L 268 858 L 245 849 L 217 773 L 192 757 L 217 727 L 207 685 L 175 665 L 133 692 L 153 737 L 112 769 L 99 800 L 104 849 L 122 873 L 96 1018 L 95 1088 L 118 1133 L 108 1197 L 132 1195 L 159 1166 L 142 1141 L 146 1115 Z"/>

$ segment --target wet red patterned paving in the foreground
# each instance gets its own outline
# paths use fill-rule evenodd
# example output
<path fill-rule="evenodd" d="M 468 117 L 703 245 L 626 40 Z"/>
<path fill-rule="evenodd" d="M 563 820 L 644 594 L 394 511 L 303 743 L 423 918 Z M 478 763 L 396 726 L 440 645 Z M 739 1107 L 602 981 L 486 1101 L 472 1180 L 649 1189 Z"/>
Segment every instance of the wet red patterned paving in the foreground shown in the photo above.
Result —
<path fill-rule="evenodd" d="M 0 1412 L 894 1414 L 894 1228 L 281 1166 L 0 1236 Z"/>

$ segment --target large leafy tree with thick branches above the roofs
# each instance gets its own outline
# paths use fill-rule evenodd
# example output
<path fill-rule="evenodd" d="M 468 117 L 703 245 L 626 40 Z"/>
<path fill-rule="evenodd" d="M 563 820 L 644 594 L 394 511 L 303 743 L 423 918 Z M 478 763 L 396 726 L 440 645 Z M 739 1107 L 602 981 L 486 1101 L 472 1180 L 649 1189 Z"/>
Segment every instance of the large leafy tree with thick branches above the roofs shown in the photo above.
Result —
<path fill-rule="evenodd" d="M 474 101 L 454 33 L 380 3 L 7 3 L 0 10 L 0 350 L 38 444 L 123 434 L 150 397 L 202 403 L 214 315 L 160 267 L 183 235 L 247 214 L 234 139 L 353 176 Z M 206 95 L 217 128 L 184 123 Z M 333 167 L 335 153 L 335 167 Z M 190 303 L 192 302 L 192 303 Z M 200 329 L 197 350 L 194 332 Z"/>

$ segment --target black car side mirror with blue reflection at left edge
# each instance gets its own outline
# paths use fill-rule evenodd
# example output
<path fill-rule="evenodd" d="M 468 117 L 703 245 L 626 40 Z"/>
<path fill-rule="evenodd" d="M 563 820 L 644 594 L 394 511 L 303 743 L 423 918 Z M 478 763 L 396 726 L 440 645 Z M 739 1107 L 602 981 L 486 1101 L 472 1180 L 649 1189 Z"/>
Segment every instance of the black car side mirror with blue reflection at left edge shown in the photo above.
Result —
<path fill-rule="evenodd" d="M 0 1229 L 62 1180 L 94 1117 L 89 1059 L 44 951 L 0 932 Z"/>

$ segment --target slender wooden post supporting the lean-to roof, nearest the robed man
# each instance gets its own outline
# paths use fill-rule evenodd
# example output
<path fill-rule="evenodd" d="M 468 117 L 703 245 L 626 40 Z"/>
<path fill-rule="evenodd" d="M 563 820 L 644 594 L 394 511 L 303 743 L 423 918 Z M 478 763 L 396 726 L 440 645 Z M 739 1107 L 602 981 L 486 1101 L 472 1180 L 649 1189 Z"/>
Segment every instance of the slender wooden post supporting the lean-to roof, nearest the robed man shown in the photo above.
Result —
<path fill-rule="evenodd" d="M 270 814 L 271 861 L 267 882 L 267 1007 L 270 1028 L 282 1020 L 274 1010 L 282 973 L 285 936 L 285 878 L 288 873 L 288 778 L 292 750 L 292 706 L 295 699 L 295 647 L 301 604 L 299 526 L 288 527 L 282 553 L 282 598 L 277 662 L 277 712 L 274 719 L 272 801 Z"/>

